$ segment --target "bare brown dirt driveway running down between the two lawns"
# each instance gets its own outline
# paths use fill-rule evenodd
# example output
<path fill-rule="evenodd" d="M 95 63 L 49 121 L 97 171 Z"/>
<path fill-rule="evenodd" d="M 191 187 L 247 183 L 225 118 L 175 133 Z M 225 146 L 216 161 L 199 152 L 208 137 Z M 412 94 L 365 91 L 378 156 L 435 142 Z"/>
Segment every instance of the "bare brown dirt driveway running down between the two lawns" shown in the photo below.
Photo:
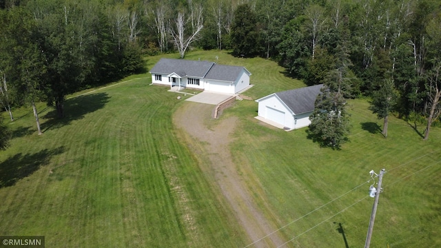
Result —
<path fill-rule="evenodd" d="M 237 119 L 229 117 L 207 127 L 214 105 L 184 103 L 174 114 L 174 125 L 188 134 L 190 149 L 199 156 L 202 171 L 214 178 L 214 185 L 220 189 L 226 202 L 234 211 L 236 220 L 243 227 L 252 242 L 271 234 L 276 227 L 269 222 L 254 201 L 249 185 L 245 181 L 252 175 L 239 174 L 229 152 L 234 141 L 233 131 Z M 278 247 L 284 243 L 280 236 L 271 234 L 251 247 Z"/>

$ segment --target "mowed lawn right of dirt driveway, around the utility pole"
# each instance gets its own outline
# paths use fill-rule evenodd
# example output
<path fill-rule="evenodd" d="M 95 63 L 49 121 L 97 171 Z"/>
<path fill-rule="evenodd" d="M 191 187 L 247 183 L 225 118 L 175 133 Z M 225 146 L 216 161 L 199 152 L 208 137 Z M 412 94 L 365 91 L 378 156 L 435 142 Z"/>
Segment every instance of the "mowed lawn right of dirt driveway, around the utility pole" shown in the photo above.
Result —
<path fill-rule="evenodd" d="M 384 167 L 371 246 L 438 247 L 440 130 L 427 142 L 407 123 L 391 118 L 385 139 L 380 130 L 369 128 L 381 121 L 367 110 L 365 100 L 351 100 L 349 105 L 353 127 L 341 151 L 318 147 L 306 138 L 305 129 L 285 132 L 262 125 L 254 120 L 254 102 L 229 109 L 227 114 L 242 120 L 232 147 L 240 148 L 237 164 L 251 165 L 251 172 L 243 174 L 256 174 L 262 185 L 253 187 L 256 183 L 250 182 L 250 189 L 257 199 L 265 199 L 261 204 L 271 206 L 267 216 L 280 227 L 288 225 L 280 231 L 292 239 L 290 245 L 344 247 L 344 236 L 349 247 L 362 247 L 373 205 L 373 198 L 366 197 L 369 171 L 378 173 Z"/>

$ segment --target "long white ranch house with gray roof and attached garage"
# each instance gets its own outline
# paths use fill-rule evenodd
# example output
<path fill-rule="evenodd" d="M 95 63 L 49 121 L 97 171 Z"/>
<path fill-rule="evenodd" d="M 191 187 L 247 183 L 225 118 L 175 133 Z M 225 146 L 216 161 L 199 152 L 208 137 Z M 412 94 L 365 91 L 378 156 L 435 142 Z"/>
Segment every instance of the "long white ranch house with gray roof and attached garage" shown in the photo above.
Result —
<path fill-rule="evenodd" d="M 251 73 L 244 67 L 209 61 L 161 59 L 152 70 L 152 83 L 236 94 L 249 86 Z"/>

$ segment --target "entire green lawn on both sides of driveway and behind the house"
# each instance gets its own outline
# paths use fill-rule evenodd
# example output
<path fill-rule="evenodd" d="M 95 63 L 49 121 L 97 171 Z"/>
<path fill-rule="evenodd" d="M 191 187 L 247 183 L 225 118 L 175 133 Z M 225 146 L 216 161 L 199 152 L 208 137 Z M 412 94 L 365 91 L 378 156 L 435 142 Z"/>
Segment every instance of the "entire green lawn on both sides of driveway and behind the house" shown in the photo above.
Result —
<path fill-rule="evenodd" d="M 178 58 L 176 54 L 165 55 Z M 217 59 L 216 59 L 217 58 Z M 147 67 L 158 61 L 150 57 Z M 265 59 L 194 51 L 187 59 L 244 65 L 248 96 L 302 87 Z M 66 101 L 62 121 L 39 105 L 14 111 L 11 146 L 0 152 L 0 235 L 44 235 L 47 247 L 245 247 L 232 212 L 179 141 L 171 116 L 183 101 L 134 75 Z M 258 205 L 280 227 L 287 247 L 362 247 L 373 199 L 369 171 L 385 168 L 371 247 L 440 247 L 441 130 L 390 118 L 389 136 L 351 100 L 351 135 L 341 151 L 321 149 L 306 129 L 285 132 L 259 123 L 257 103 L 237 101 L 231 147 Z M 256 178 L 249 180 L 247 174 Z"/>

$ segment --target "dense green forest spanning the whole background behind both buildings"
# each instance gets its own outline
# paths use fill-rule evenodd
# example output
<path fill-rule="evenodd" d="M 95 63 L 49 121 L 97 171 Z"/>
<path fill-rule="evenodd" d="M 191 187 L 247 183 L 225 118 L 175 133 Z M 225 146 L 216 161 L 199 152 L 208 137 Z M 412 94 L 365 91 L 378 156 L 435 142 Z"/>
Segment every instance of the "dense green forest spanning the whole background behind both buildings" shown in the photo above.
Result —
<path fill-rule="evenodd" d="M 0 0 L 1 103 L 8 112 L 24 104 L 36 112 L 34 102 L 46 101 L 62 117 L 67 94 L 142 70 L 146 55 L 218 49 L 277 61 L 307 85 L 340 82 L 336 89 L 346 98 L 379 96 L 388 85 L 396 101 L 387 107 L 427 121 L 428 135 L 440 115 L 440 6 L 438 0 Z"/>

